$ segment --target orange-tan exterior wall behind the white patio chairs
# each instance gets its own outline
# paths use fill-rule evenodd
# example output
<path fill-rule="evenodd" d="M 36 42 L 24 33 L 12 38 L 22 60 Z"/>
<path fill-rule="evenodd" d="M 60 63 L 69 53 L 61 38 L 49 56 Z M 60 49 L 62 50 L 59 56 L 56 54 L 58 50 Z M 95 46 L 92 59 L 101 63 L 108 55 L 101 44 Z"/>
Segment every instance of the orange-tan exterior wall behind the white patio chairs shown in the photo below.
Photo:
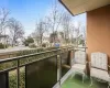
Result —
<path fill-rule="evenodd" d="M 110 57 L 110 6 L 87 12 L 87 53 L 103 52 Z"/>

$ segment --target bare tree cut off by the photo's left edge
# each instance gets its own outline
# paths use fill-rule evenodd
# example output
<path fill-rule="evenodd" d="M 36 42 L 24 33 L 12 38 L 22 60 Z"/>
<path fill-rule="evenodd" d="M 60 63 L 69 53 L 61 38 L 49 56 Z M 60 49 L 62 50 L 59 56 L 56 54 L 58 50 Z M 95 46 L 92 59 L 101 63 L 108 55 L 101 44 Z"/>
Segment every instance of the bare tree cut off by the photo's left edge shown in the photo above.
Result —
<path fill-rule="evenodd" d="M 4 32 L 8 23 L 9 11 L 4 8 L 0 8 L 0 35 Z"/>

